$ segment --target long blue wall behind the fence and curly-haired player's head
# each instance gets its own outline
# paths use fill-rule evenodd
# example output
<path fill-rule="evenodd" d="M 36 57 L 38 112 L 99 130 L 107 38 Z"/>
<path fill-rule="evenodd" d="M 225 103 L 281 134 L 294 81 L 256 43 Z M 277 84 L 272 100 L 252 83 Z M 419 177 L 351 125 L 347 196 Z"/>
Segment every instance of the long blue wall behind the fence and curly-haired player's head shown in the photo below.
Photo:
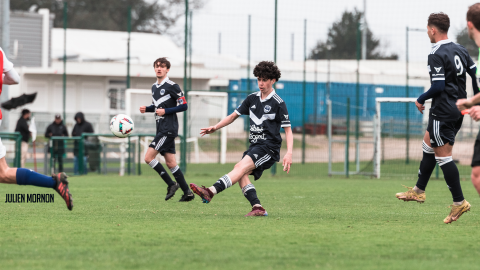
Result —
<path fill-rule="evenodd" d="M 247 79 L 231 80 L 229 82 L 230 91 L 246 91 Z M 252 92 L 259 91 L 256 79 L 251 79 Z M 303 82 L 299 81 L 284 81 L 281 80 L 278 84 L 283 84 L 283 89 L 277 89 L 278 95 L 285 101 L 288 108 L 288 113 L 292 122 L 292 127 L 302 125 L 302 109 L 303 109 Z M 306 83 L 306 122 L 313 123 L 314 106 L 317 106 L 317 123 L 325 122 L 327 114 L 326 106 L 326 83 L 317 83 L 316 85 L 316 101 L 315 101 L 315 83 Z M 279 88 L 279 87 L 277 87 Z M 382 88 L 383 93 L 377 93 L 376 89 Z M 406 97 L 405 86 L 397 85 L 373 85 L 360 84 L 359 96 L 359 115 L 361 119 L 371 120 L 375 114 L 375 98 L 377 97 Z M 356 84 L 355 83 L 331 83 L 330 84 L 330 99 L 332 100 L 332 117 L 346 116 L 347 97 L 350 97 L 350 113 L 355 115 L 356 109 Z M 410 87 L 409 96 L 418 97 L 423 93 L 423 87 Z M 228 108 L 229 113 L 232 113 L 238 105 L 246 98 L 246 93 L 229 93 Z M 388 103 L 387 103 L 388 104 Z M 382 120 L 394 118 L 397 121 L 406 119 L 405 104 L 393 103 L 382 106 Z M 421 121 L 422 115 L 417 111 L 415 104 L 411 103 L 409 107 L 410 120 Z"/>

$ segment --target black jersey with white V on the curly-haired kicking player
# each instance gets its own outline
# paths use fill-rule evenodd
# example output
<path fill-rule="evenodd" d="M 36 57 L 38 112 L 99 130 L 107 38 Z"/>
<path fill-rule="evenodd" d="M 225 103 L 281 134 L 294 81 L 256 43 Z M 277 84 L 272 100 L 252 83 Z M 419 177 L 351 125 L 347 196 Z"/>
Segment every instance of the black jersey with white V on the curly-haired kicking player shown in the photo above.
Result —
<path fill-rule="evenodd" d="M 250 116 L 250 145 L 264 145 L 280 151 L 280 128 L 290 127 L 287 105 L 275 89 L 261 100 L 261 92 L 249 95 L 235 110 L 238 115 Z"/>

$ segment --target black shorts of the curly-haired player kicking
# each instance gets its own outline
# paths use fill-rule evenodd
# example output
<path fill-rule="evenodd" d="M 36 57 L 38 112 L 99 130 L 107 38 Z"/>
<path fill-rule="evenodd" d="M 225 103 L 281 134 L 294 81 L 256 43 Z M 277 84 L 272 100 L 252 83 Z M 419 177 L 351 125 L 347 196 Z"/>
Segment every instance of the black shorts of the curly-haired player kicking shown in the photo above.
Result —
<path fill-rule="evenodd" d="M 250 156 L 253 163 L 255 163 L 255 169 L 250 174 L 253 175 L 255 181 L 262 177 L 264 170 L 270 169 L 275 162 L 280 160 L 278 151 L 273 151 L 259 145 L 250 146 L 247 151 L 243 152 L 242 158 L 244 158 L 245 155 Z"/>

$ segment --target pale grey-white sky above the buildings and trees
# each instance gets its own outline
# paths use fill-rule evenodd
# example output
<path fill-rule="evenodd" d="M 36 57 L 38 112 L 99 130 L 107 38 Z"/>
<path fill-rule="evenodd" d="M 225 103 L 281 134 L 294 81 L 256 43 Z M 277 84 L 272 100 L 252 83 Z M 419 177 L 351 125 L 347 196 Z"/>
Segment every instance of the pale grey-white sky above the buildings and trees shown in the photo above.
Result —
<path fill-rule="evenodd" d="M 217 53 L 218 33 L 222 33 L 223 54 L 247 56 L 247 20 L 252 15 L 252 59 L 273 59 L 274 0 L 207 0 L 207 5 L 194 14 L 193 50 L 195 53 Z M 386 45 L 389 52 L 405 57 L 405 28 L 425 28 L 428 15 L 443 11 L 450 16 L 450 37 L 465 27 L 466 0 L 367 0 L 370 29 Z M 307 19 L 307 50 L 317 40 L 326 38 L 328 27 L 344 10 L 363 9 L 363 0 L 278 0 L 277 59 L 289 60 L 291 35 L 294 57 L 303 58 L 303 20 Z M 182 23 L 183 26 L 183 23 Z M 179 27 L 180 28 L 180 27 Z M 180 29 L 179 29 L 180 30 Z M 410 58 L 426 61 L 430 42 L 426 33 L 410 34 Z M 355 44 L 352 44 L 355 46 Z"/>

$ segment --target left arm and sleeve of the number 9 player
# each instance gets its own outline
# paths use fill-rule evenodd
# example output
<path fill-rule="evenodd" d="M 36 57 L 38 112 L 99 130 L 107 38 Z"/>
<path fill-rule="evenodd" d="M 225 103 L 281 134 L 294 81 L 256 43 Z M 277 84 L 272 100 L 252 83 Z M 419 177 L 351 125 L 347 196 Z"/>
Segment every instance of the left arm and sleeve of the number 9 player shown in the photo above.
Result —
<path fill-rule="evenodd" d="M 422 114 L 423 110 L 425 110 L 425 101 L 434 98 L 445 90 L 445 66 L 443 60 L 438 55 L 430 54 L 428 56 L 428 66 L 432 75 L 432 85 L 427 92 L 421 94 L 415 101 L 417 109 Z"/>

